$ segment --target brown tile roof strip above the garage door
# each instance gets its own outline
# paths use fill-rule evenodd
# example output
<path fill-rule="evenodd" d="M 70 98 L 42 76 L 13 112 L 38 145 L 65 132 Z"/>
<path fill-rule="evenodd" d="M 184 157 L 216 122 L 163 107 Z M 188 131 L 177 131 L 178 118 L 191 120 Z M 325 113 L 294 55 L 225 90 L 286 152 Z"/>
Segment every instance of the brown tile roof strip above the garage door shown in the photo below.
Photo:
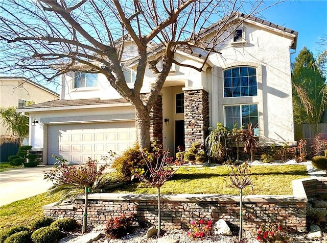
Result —
<path fill-rule="evenodd" d="M 70 99 L 70 100 L 52 100 L 42 103 L 32 104 L 28 106 L 21 107 L 19 109 L 34 109 L 34 108 L 52 108 L 52 107 L 62 107 L 62 106 L 79 106 L 79 105 L 95 105 L 95 104 L 118 104 L 127 103 L 123 98 L 121 99 Z M 19 110 L 17 109 L 17 110 Z"/>

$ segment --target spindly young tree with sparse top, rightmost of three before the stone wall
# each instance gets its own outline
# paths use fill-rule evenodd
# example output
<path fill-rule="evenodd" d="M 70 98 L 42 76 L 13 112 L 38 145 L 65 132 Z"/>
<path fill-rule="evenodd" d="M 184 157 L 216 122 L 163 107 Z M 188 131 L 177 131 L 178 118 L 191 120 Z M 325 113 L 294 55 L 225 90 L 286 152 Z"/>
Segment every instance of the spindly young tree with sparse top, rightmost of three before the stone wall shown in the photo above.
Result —
<path fill-rule="evenodd" d="M 243 189 L 247 186 L 253 187 L 253 179 L 251 178 L 250 166 L 247 162 L 242 165 L 229 165 L 228 169 L 228 179 L 226 179 L 226 186 L 237 188 L 240 190 L 240 233 L 239 233 L 239 242 L 242 241 L 243 233 Z"/>

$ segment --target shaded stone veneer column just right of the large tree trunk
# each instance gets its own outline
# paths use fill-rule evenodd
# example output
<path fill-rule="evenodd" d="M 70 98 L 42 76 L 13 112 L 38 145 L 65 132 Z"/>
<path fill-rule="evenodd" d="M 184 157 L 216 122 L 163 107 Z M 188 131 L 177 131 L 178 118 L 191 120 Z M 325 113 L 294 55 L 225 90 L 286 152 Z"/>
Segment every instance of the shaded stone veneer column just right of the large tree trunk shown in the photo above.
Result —
<path fill-rule="evenodd" d="M 145 99 L 148 94 L 141 94 Z M 136 127 L 137 129 L 137 127 Z M 150 140 L 162 144 L 162 96 L 159 95 L 150 112 Z"/>

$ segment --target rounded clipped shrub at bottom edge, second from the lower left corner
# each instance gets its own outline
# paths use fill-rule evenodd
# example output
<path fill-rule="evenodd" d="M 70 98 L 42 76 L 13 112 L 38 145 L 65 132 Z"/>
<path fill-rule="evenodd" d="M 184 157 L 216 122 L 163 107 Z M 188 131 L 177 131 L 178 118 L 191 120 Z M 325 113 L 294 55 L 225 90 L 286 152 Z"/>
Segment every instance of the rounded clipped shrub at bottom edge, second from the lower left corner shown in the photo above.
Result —
<path fill-rule="evenodd" d="M 55 243 L 60 240 L 63 234 L 57 227 L 46 226 L 33 232 L 31 239 L 33 243 Z"/>

